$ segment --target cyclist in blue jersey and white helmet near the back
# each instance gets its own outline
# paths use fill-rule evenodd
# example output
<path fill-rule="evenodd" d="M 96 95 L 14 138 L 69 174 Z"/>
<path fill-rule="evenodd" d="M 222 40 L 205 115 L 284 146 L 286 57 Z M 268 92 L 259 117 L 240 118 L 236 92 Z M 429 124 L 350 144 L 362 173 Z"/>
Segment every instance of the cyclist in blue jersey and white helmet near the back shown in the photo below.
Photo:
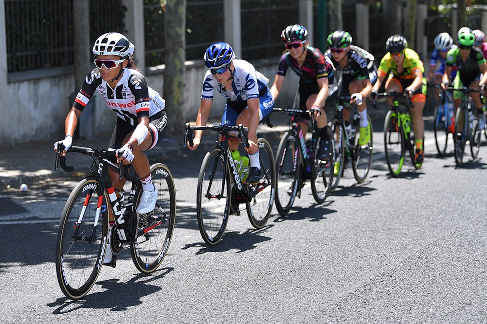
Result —
<path fill-rule="evenodd" d="M 429 63 L 428 82 L 433 80 L 435 85 L 439 85 L 441 83 L 441 79 L 445 73 L 446 53 L 452 48 L 456 48 L 456 45 L 453 45 L 453 39 L 451 38 L 450 34 L 445 32 L 440 33 L 435 37 L 435 49 L 433 50 L 433 53 L 431 53 Z M 440 66 L 435 71 L 437 61 L 440 61 Z M 452 67 L 451 73 L 452 78 L 454 78 L 456 75 L 455 66 Z M 434 92 L 435 100 L 438 101 L 440 99 L 440 89 L 435 88 Z"/>

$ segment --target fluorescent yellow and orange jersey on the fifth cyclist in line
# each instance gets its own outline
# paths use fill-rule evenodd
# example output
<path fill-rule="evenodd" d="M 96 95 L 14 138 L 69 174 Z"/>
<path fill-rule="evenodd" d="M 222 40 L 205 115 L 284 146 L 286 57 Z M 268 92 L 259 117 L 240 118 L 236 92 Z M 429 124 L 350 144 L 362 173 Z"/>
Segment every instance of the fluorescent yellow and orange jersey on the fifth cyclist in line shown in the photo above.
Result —
<path fill-rule="evenodd" d="M 421 62 L 419 59 L 418 53 L 410 48 L 406 48 L 404 50 L 404 56 L 403 73 L 398 73 L 397 65 L 392 59 L 391 53 L 388 52 L 381 60 L 381 64 L 377 70 L 377 75 L 385 77 L 389 72 L 392 72 L 393 76 L 399 79 L 414 79 L 416 77 L 414 75 L 416 71 L 419 70 L 421 73 L 424 72 L 423 62 Z"/>

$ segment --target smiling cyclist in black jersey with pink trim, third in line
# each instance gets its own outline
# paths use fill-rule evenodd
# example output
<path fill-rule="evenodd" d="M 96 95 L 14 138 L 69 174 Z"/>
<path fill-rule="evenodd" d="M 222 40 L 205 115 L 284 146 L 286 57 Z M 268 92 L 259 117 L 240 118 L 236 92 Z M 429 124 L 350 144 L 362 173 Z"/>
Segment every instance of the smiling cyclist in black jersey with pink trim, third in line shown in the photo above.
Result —
<path fill-rule="evenodd" d="M 311 110 L 320 129 L 320 148 L 318 158 L 329 160 L 331 151 L 331 128 L 327 125 L 325 102 L 329 95 L 329 86 L 334 83 L 333 64 L 317 48 L 309 46 L 308 31 L 301 25 L 289 25 L 281 32 L 281 40 L 286 47 L 279 61 L 274 84 L 271 87 L 272 98 L 276 100 L 284 83 L 288 67 L 299 76 L 299 109 Z M 336 90 L 336 87 L 335 89 Z M 330 100 L 331 101 L 331 100 Z M 311 116 L 310 116 L 311 117 Z M 299 118 L 303 134 L 308 130 L 307 116 Z"/>

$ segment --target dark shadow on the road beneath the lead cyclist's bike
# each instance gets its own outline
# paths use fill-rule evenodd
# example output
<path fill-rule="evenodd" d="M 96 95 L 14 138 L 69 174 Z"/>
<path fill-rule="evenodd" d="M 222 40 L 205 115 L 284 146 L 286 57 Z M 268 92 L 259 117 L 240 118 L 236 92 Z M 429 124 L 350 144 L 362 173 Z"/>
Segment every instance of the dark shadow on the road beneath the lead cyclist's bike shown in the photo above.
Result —
<path fill-rule="evenodd" d="M 57 307 L 52 313 L 62 315 L 78 309 L 110 309 L 111 311 L 123 311 L 129 307 L 142 304 L 142 297 L 162 290 L 160 285 L 150 282 L 165 277 L 174 268 L 162 268 L 154 272 L 152 276 L 136 274 L 126 282 L 118 282 L 119 279 L 109 279 L 96 282 L 96 285 L 106 289 L 104 291 L 88 294 L 80 300 L 71 300 L 66 297 L 58 298 L 47 304 L 49 307 Z M 116 298 L 113 298 L 116 296 Z"/>

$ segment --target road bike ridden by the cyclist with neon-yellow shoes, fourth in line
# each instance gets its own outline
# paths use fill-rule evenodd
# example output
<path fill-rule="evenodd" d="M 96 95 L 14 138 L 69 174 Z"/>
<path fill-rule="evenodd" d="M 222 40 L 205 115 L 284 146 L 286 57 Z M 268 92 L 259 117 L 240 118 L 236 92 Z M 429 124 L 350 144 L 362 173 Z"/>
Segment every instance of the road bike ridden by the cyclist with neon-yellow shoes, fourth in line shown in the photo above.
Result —
<path fill-rule="evenodd" d="M 338 174 L 335 174 L 331 190 L 334 190 L 338 186 L 338 182 L 344 173 L 348 161 L 352 163 L 353 175 L 358 183 L 366 180 L 371 167 L 373 153 L 372 121 L 369 115 L 367 115 L 367 120 L 371 127 L 371 139 L 366 145 L 358 145 L 359 136 L 357 134 L 360 132 L 360 114 L 357 105 L 350 104 L 350 100 L 350 96 L 337 97 L 336 112 L 331 122 L 331 130 L 335 141 L 335 164 L 339 163 Z M 343 119 L 344 109 L 353 111 L 352 122 L 349 126 L 345 126 L 345 120 Z"/>

